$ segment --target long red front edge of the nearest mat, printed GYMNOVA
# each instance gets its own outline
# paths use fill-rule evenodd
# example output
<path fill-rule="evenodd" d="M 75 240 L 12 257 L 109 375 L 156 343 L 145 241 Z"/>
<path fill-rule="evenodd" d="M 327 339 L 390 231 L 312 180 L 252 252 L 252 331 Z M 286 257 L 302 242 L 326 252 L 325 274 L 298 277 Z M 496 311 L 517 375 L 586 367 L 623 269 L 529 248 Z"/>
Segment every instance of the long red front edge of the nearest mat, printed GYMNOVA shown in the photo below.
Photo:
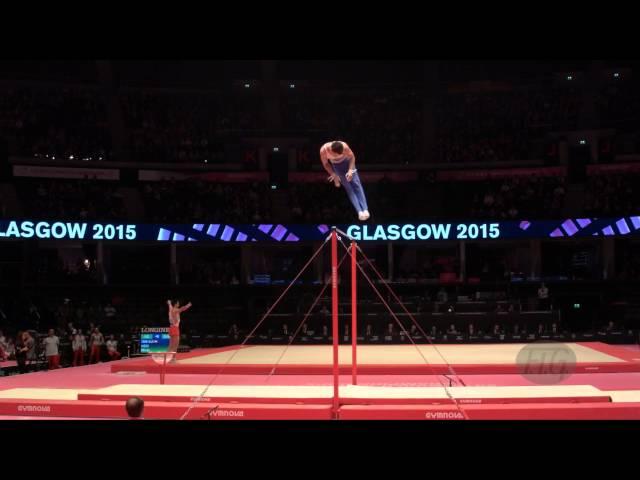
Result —
<path fill-rule="evenodd" d="M 23 407 L 20 409 L 19 407 Z M 31 411 L 25 411 L 30 407 Z M 206 419 L 210 404 L 146 402 L 145 419 Z M 640 420 L 640 403 L 466 405 L 470 420 Z M 330 405 L 219 404 L 212 420 L 329 420 Z M 122 402 L 0 400 L 0 415 L 125 419 Z M 340 420 L 463 420 L 454 405 L 342 405 Z"/>

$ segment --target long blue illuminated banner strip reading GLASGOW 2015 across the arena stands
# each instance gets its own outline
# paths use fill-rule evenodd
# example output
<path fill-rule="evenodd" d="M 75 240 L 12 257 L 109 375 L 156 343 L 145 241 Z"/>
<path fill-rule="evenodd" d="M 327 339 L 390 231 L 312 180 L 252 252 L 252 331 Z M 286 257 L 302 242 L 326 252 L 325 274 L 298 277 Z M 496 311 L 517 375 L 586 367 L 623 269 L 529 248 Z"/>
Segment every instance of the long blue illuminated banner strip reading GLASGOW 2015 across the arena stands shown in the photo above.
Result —
<path fill-rule="evenodd" d="M 365 242 L 619 237 L 640 236 L 640 216 L 569 218 L 556 221 L 359 223 L 336 227 L 350 238 Z M 330 230 L 329 224 L 142 224 L 0 220 L 0 240 L 292 243 L 325 240 Z"/>

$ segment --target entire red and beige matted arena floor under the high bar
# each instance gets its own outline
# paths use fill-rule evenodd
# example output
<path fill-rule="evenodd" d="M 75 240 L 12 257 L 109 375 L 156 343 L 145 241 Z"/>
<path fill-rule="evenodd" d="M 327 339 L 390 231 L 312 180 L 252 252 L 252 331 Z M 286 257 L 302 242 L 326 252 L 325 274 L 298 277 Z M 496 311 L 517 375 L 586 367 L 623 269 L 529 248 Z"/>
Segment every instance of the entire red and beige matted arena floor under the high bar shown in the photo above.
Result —
<path fill-rule="evenodd" d="M 3 377 L 0 418 L 122 419 L 124 400 L 140 396 L 147 419 L 640 419 L 638 346 L 567 346 L 576 355 L 576 368 L 549 385 L 536 384 L 515 370 L 492 373 L 496 365 L 514 367 L 520 344 L 438 345 L 454 370 L 474 366 L 471 373 L 456 371 L 453 377 L 450 372 L 402 373 L 412 364 L 400 360 L 415 361 L 405 351 L 415 354 L 413 346 L 360 346 L 357 385 L 350 374 L 340 376 L 337 408 L 333 377 L 314 367 L 326 367 L 316 362 L 326 362 L 329 346 L 194 350 L 168 367 L 164 385 L 149 358 Z M 421 346 L 425 356 L 435 353 L 429 348 Z M 279 363 L 310 366 L 310 373 L 276 373 L 277 351 L 282 355 Z M 341 347 L 345 373 L 351 371 L 350 353 L 350 347 Z M 399 370 L 363 372 L 392 354 L 397 361 L 388 365 Z M 221 373 L 221 362 L 250 368 Z M 206 368 L 189 370 L 198 365 Z M 251 370 L 255 365 L 270 366 L 270 371 L 257 373 Z M 584 370 L 579 365 L 608 367 Z"/>

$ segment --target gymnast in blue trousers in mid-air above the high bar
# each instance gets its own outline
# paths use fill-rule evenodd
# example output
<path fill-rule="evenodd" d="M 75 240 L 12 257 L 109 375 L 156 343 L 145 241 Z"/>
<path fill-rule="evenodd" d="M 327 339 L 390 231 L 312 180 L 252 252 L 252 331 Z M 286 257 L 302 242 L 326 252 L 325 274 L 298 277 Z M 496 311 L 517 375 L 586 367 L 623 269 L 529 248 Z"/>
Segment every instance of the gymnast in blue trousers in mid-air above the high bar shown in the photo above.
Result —
<path fill-rule="evenodd" d="M 322 166 L 329 174 L 328 181 L 336 187 L 344 187 L 351 204 L 358 212 L 358 219 L 370 217 L 367 198 L 356 170 L 356 156 L 345 142 L 327 142 L 320 148 Z"/>

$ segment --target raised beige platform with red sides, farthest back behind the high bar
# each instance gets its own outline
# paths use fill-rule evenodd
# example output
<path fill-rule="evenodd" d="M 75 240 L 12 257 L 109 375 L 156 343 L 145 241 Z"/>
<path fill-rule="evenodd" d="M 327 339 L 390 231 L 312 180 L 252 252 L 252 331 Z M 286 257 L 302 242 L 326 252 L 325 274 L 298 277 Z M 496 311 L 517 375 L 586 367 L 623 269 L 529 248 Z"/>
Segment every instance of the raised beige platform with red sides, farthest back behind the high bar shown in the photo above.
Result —
<path fill-rule="evenodd" d="M 527 344 L 532 358 L 543 358 L 549 344 Z M 640 354 L 601 342 L 551 344 L 564 346 L 575 355 L 576 372 L 640 372 Z M 359 345 L 358 372 L 361 374 L 509 374 L 521 373 L 522 344 L 465 345 Z M 528 357 L 527 357 L 528 358 Z M 558 357 L 559 360 L 563 360 Z M 533 360 L 535 361 L 535 360 Z M 339 347 L 340 371 L 351 373 L 351 346 Z M 131 364 L 113 364 L 112 371 L 159 373 L 162 367 L 149 358 Z M 243 346 L 198 349 L 180 356 L 169 365 L 171 373 L 237 373 L 280 375 L 330 375 L 330 345 Z"/>

